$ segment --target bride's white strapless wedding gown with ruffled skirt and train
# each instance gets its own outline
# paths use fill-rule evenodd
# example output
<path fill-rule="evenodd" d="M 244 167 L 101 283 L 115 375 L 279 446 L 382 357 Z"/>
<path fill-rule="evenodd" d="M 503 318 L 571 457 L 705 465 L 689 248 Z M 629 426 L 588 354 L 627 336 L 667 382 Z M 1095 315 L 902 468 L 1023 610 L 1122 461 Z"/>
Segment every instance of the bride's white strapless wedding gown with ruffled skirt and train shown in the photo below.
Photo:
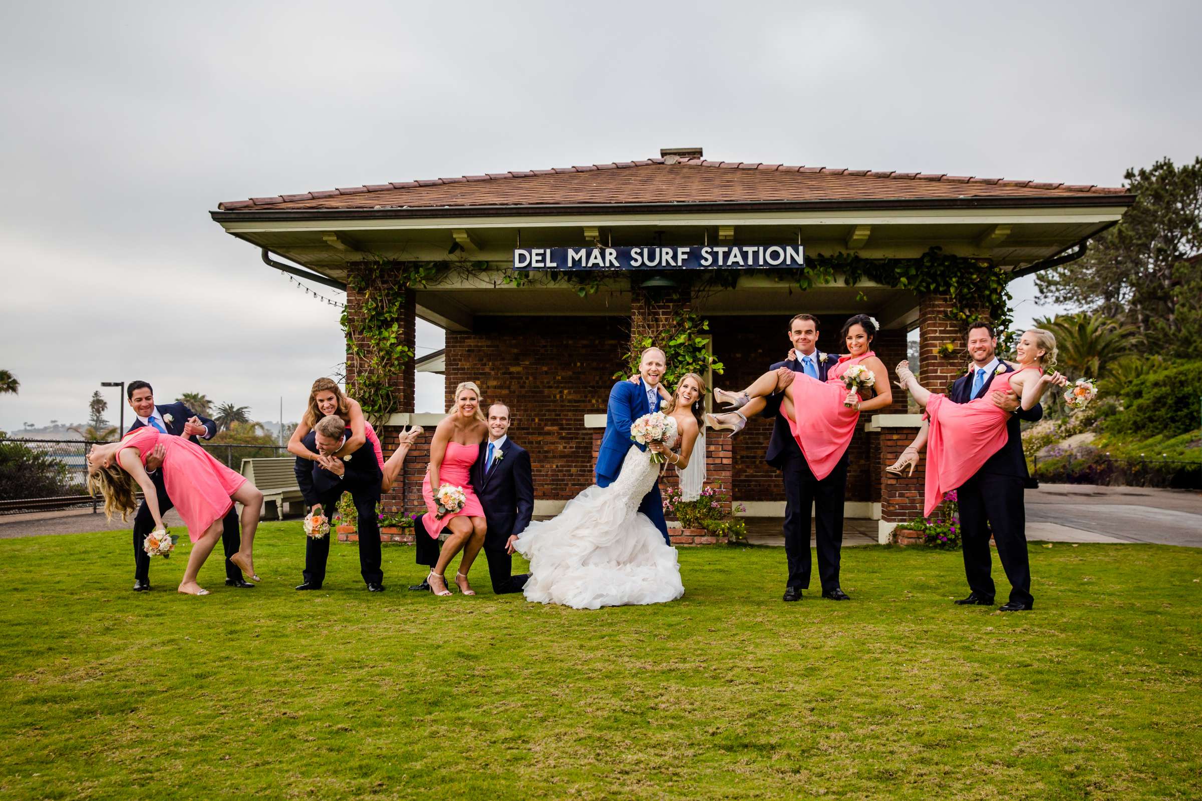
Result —
<path fill-rule="evenodd" d="M 672 447 L 677 428 L 668 420 L 665 444 Z M 676 548 L 637 511 L 660 473 L 649 456 L 631 447 L 613 483 L 593 485 L 557 517 L 522 532 L 513 547 L 530 560 L 526 600 L 600 609 L 664 604 L 684 594 Z"/>

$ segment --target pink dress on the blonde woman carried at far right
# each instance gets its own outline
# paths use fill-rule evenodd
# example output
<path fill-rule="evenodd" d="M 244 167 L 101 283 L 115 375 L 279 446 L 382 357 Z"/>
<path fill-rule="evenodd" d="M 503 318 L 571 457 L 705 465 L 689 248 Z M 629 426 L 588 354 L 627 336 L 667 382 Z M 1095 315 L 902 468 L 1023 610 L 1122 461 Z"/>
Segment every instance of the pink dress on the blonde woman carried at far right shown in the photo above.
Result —
<path fill-rule="evenodd" d="M 1035 364 L 1023 369 L 1040 369 Z M 1022 373 L 1001 373 L 989 382 L 983 397 L 956 403 L 946 394 L 932 394 L 927 400 L 927 483 L 923 489 L 923 517 L 944 500 L 944 496 L 976 475 L 990 456 L 1010 439 L 1006 423 L 1010 413 L 994 405 L 989 394 L 1005 392 L 1010 380 Z M 1042 373 L 1043 370 L 1040 370 Z"/>

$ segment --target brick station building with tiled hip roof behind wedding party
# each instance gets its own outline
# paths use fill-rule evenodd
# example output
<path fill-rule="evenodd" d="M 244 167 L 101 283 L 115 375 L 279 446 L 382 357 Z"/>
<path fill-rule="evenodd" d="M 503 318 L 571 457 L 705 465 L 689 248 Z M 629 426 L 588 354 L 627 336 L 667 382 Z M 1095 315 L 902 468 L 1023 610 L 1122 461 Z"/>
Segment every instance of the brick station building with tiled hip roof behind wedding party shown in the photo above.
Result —
<path fill-rule="evenodd" d="M 210 214 L 262 249 L 270 266 L 333 286 L 345 287 L 353 271 L 380 260 L 439 265 L 424 286 L 395 291 L 400 342 L 412 346 L 415 318 L 445 328 L 448 403 L 456 384 L 470 379 L 487 402 L 512 407 L 512 437 L 534 459 L 536 512 L 553 514 L 591 482 L 606 398 L 631 338 L 659 331 L 680 309 L 709 321 L 713 352 L 726 366 L 715 380 L 726 387 L 744 386 L 784 357 L 787 320 L 798 312 L 821 319 L 819 348 L 835 352 L 850 314 L 874 315 L 882 327 L 874 349 L 891 368 L 917 328 L 921 378 L 932 387 L 963 369 L 963 336 L 947 316 L 947 297 L 870 280 L 846 286 L 837 275 L 802 291 L 779 272 L 748 269 L 733 287 L 701 291 L 697 272 L 631 269 L 606 273 L 597 291 L 581 293 L 546 273 L 513 281 L 514 249 L 801 244 L 807 255 L 905 259 L 940 247 L 1019 275 L 1083 253 L 1082 243 L 1118 221 L 1132 200 L 1123 189 L 1088 185 L 708 161 L 698 148 L 642 161 L 256 197 Z M 364 313 L 355 291 L 347 313 L 352 320 Z M 356 369 L 349 358 L 349 374 Z M 413 414 L 412 370 L 410 361 L 392 376 L 401 411 L 385 428 L 389 451 L 397 426 L 429 429 L 440 417 Z M 905 414 L 902 393 L 894 398 L 892 409 L 865 415 L 851 445 L 847 514 L 879 520 L 882 542 L 921 509 L 921 470 L 900 480 L 882 470 L 920 422 Z M 749 515 L 784 514 L 779 476 L 762 459 L 768 433 L 767 421 L 752 421 L 733 439 L 708 438 L 707 481 L 728 487 Z M 424 452 L 424 444 L 412 451 L 386 505 L 422 506 Z"/>

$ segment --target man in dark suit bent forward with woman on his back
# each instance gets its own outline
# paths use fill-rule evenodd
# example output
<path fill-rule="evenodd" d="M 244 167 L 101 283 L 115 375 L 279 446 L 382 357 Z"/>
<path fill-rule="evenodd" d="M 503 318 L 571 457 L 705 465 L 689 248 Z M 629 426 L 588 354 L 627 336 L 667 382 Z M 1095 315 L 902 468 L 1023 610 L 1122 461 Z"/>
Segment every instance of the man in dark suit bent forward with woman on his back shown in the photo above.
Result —
<path fill-rule="evenodd" d="M 380 503 L 380 482 L 383 480 L 383 473 L 380 470 L 375 445 L 365 445 L 341 458 L 334 456 L 350 434 L 351 429 L 345 427 L 341 417 L 337 415 L 322 417 L 303 440 L 304 446 L 317 453 L 321 461 L 314 462 L 298 456 L 292 469 L 310 514 L 320 511 L 329 518 L 338 508 L 338 499 L 343 493 L 351 493 L 359 520 L 359 574 L 368 585 L 368 592 L 382 593 L 383 569 L 380 566 L 382 559 L 376 504 Z M 304 550 L 304 581 L 297 589 L 321 589 L 326 581 L 331 536 L 327 534 L 321 539 L 305 538 L 308 541 Z"/>

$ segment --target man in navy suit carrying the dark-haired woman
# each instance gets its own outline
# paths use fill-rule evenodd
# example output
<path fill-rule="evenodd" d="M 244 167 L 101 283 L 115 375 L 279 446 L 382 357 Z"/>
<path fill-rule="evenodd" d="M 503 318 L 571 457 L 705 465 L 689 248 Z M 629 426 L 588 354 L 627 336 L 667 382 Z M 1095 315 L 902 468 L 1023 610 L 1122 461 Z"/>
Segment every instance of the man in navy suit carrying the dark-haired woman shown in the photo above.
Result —
<path fill-rule="evenodd" d="M 817 349 L 817 318 L 809 314 L 796 315 L 789 321 L 789 339 L 793 344 L 792 358 L 776 362 L 769 369 L 784 368 L 825 381 L 827 370 L 839 362 L 839 357 Z M 789 578 L 785 582 L 784 599 L 802 600 L 802 591 L 810 587 L 813 570 L 810 510 L 813 509 L 822 597 L 831 600 L 850 600 L 839 587 L 847 453 L 843 455 L 831 475 L 821 481 L 815 479 L 802 455 L 802 449 L 793 438 L 789 419 L 780 411 L 780 400 L 784 397 L 784 392 L 773 394 L 761 413 L 762 416 L 773 417 L 772 439 L 768 440 L 768 453 L 764 458 L 768 464 L 780 470 L 785 481 L 785 558 L 789 560 Z M 802 411 L 798 410 L 798 414 Z"/>

